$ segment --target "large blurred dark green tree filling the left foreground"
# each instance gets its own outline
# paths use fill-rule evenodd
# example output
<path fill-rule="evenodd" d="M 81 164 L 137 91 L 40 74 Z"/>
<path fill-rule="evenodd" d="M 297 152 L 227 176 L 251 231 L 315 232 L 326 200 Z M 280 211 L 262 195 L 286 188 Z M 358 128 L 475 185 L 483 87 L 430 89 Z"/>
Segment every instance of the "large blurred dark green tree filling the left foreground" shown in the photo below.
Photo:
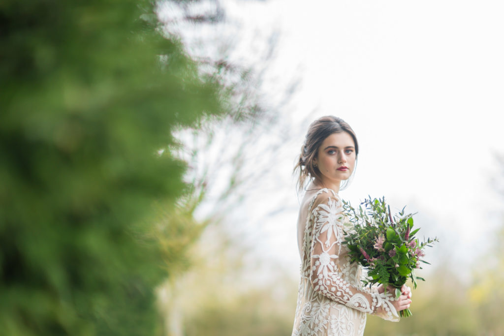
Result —
<path fill-rule="evenodd" d="M 2 334 L 160 332 L 153 288 L 185 261 L 152 204 L 191 191 L 172 131 L 226 104 L 158 31 L 147 1 L 0 5 Z"/>

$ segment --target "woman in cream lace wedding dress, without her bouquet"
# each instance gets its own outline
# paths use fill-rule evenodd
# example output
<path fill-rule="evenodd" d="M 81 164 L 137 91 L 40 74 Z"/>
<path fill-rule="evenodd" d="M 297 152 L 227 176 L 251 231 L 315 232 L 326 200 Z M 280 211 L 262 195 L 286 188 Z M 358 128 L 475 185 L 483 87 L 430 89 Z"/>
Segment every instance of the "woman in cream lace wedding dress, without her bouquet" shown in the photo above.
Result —
<path fill-rule="evenodd" d="M 301 280 L 293 335 L 362 335 L 366 313 L 398 321 L 411 290 L 396 300 L 383 286 L 363 288 L 361 266 L 342 245 L 345 223 L 338 195 L 355 169 L 359 146 L 352 128 L 334 116 L 314 121 L 299 162 L 300 190 L 308 181 L 297 221 Z M 350 227 L 347 227 L 347 230 Z"/>

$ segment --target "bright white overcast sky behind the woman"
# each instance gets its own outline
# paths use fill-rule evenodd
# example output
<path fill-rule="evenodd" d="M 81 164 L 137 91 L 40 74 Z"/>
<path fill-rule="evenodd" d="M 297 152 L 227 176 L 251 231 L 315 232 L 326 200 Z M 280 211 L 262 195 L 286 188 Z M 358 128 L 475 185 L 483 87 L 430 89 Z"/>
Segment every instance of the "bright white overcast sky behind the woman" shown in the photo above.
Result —
<path fill-rule="evenodd" d="M 301 79 L 279 111 L 288 128 L 281 154 L 236 217 L 261 253 L 297 275 L 291 171 L 308 123 L 333 114 L 353 127 L 360 147 L 356 176 L 341 195 L 354 205 L 367 194 L 385 195 L 392 206 L 419 211 L 420 233 L 442 240 L 427 259 L 449 256 L 454 267 L 467 268 L 471 254 L 481 252 L 473 242 L 489 237 L 504 210 L 490 187 L 498 168 L 493 153 L 504 153 L 504 3 L 223 4 L 228 20 L 240 23 L 234 61 L 254 64 L 262 50 L 258 36 L 280 33 L 260 88 L 267 102 L 277 104 L 289 81 Z M 254 153 L 277 143 L 278 134 L 265 133 Z M 280 204 L 285 208 L 277 212 Z"/>

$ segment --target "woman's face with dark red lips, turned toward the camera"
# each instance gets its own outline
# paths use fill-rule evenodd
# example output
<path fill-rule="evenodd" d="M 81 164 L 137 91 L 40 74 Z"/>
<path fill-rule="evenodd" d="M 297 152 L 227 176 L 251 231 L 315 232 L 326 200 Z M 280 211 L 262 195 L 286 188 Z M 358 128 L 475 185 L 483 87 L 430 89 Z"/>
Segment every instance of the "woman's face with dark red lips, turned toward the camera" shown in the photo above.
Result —
<path fill-rule="evenodd" d="M 350 177 L 355 168 L 355 143 L 349 133 L 343 131 L 327 137 L 319 147 L 317 163 L 326 186 L 338 186 Z"/>

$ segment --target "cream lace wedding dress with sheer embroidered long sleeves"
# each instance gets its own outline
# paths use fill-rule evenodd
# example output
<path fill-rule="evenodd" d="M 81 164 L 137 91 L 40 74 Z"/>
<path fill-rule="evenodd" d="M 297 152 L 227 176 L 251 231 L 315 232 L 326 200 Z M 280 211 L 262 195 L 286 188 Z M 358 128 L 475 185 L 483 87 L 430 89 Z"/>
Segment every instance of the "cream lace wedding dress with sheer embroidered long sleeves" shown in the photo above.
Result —
<path fill-rule="evenodd" d="M 362 267 L 350 263 L 342 245 L 343 204 L 332 189 L 305 196 L 298 219 L 301 280 L 292 335 L 362 335 L 366 313 L 391 321 L 399 317 L 392 294 L 363 288 Z"/>

